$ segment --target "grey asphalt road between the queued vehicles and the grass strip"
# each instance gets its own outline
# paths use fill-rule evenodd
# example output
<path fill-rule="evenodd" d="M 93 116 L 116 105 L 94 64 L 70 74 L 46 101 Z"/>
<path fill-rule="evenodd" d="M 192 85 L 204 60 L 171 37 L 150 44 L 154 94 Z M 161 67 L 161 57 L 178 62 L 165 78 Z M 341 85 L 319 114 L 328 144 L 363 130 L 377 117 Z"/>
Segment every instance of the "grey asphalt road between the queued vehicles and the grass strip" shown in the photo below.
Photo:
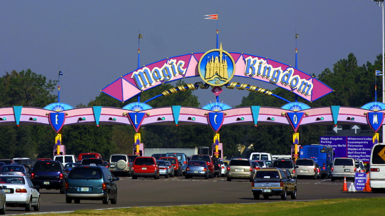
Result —
<path fill-rule="evenodd" d="M 251 182 L 248 180 L 227 181 L 226 178 L 205 180 L 203 178 L 185 179 L 174 177 L 159 180 L 131 177 L 119 177 L 117 204 L 103 205 L 102 201 L 81 200 L 80 204 L 66 203 L 65 194 L 59 190 L 40 190 L 42 212 L 66 212 L 84 209 L 105 209 L 121 207 L 143 206 L 179 206 L 199 204 L 227 204 L 227 203 L 263 203 L 283 202 L 280 196 L 270 197 L 269 200 L 254 200 L 251 192 Z M 298 180 L 297 201 L 335 199 L 335 198 L 362 198 L 385 197 L 382 193 L 373 192 L 344 192 L 343 181 L 331 182 L 327 180 Z M 350 182 L 347 182 L 349 186 Z M 24 208 L 6 208 L 6 215 L 24 214 Z M 31 212 L 33 213 L 33 212 Z M 36 212 L 37 213 L 37 212 Z"/>

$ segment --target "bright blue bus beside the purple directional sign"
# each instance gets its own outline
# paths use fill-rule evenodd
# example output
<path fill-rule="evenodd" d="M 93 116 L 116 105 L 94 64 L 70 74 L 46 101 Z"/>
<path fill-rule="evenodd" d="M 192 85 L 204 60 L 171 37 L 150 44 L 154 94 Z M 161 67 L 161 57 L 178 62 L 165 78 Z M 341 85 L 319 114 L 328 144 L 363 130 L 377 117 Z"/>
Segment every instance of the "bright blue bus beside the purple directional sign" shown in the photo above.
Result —
<path fill-rule="evenodd" d="M 333 147 L 310 144 L 300 147 L 299 158 L 311 158 L 320 167 L 321 178 L 328 178 L 331 175 L 331 169 L 333 165 Z"/>

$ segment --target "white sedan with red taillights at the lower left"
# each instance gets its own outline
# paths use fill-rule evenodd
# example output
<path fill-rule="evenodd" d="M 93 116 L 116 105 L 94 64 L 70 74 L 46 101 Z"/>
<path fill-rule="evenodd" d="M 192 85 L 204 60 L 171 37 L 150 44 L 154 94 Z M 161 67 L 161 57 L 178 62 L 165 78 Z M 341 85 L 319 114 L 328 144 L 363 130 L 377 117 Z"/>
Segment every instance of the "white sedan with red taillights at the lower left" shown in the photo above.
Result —
<path fill-rule="evenodd" d="M 1 189 L 5 192 L 5 206 L 24 207 L 25 211 L 40 210 L 39 185 L 34 185 L 27 176 L 0 176 Z"/>

